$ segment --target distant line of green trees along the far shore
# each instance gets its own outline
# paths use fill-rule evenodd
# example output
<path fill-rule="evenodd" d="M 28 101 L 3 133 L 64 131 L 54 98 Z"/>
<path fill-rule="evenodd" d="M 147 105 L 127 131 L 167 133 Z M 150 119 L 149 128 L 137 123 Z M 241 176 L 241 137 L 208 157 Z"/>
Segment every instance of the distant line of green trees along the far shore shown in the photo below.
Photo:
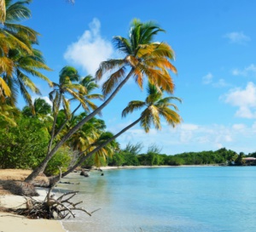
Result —
<path fill-rule="evenodd" d="M 184 152 L 175 156 L 166 156 L 160 154 L 160 148 L 157 145 L 148 147 L 147 154 L 132 154 L 131 148 L 134 145 L 127 144 L 125 150 L 116 153 L 108 162 L 110 166 L 124 166 L 124 165 L 143 165 L 143 166 L 159 166 L 159 165 L 208 165 L 208 164 L 231 164 L 236 161 L 236 165 L 242 165 L 244 162 L 242 157 L 245 155 L 241 153 L 239 156 L 233 150 L 226 150 L 225 148 L 212 151 L 201 152 Z M 142 146 L 142 144 L 140 144 Z M 256 156 L 256 153 L 251 154 Z"/>

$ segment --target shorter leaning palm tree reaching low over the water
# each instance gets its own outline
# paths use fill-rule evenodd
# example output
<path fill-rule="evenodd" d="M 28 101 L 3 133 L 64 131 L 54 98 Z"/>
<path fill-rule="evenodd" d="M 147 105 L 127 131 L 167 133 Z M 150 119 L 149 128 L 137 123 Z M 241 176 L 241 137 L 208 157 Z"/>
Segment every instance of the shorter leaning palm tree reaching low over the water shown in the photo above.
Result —
<path fill-rule="evenodd" d="M 140 110 L 143 107 L 145 107 L 145 110 L 141 113 L 139 118 L 135 122 L 132 122 L 129 126 L 125 127 L 123 130 L 121 130 L 119 133 L 115 134 L 112 138 L 107 139 L 103 143 L 97 144 L 96 148 L 94 150 L 91 150 L 89 153 L 86 154 L 86 156 L 81 156 L 84 151 L 80 152 L 79 155 L 81 156 L 80 160 L 67 172 L 62 174 L 62 177 L 66 176 L 68 173 L 73 172 L 73 170 L 76 167 L 79 167 L 86 159 L 90 158 L 90 156 L 93 156 L 98 150 L 101 150 L 104 146 L 106 146 L 108 143 L 112 142 L 113 139 L 118 138 L 122 133 L 125 133 L 128 129 L 131 127 L 134 127 L 137 123 L 140 122 L 140 126 L 143 127 L 144 131 L 146 133 L 149 132 L 150 127 L 154 125 L 154 127 L 157 130 L 161 129 L 160 126 L 160 118 L 164 118 L 168 125 L 175 127 L 177 124 L 182 122 L 181 117 L 177 114 L 177 105 L 174 105 L 172 103 L 172 100 L 177 100 L 181 102 L 181 99 L 177 97 L 166 97 L 163 98 L 163 92 L 162 89 L 159 89 L 152 85 L 151 83 L 148 83 L 148 97 L 145 101 L 131 101 L 127 107 L 125 107 L 125 110 L 122 112 L 122 116 L 127 116 L 129 113 L 132 113 L 135 110 Z"/>

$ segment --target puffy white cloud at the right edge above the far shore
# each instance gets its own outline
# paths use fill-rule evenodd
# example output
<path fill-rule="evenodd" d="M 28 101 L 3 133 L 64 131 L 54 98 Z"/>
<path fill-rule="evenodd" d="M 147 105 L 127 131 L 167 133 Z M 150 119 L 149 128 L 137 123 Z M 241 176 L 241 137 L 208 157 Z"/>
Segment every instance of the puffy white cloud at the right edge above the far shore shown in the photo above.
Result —
<path fill-rule="evenodd" d="M 222 99 L 225 103 L 238 107 L 236 116 L 256 118 L 256 86 L 253 82 L 248 82 L 245 89 L 231 89 Z"/>

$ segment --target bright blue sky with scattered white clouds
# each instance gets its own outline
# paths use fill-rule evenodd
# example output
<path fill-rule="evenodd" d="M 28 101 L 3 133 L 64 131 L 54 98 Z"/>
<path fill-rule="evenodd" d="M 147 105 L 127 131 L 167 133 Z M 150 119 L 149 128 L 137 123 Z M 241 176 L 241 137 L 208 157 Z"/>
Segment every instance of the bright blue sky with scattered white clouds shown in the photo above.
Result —
<path fill-rule="evenodd" d="M 178 75 L 172 75 L 174 95 L 183 123 L 176 128 L 162 123 L 146 134 L 133 127 L 118 141 L 122 147 L 142 142 L 144 150 L 157 144 L 162 153 L 218 150 L 254 152 L 256 137 L 256 2 L 253 0 L 33 1 L 32 19 L 25 22 L 41 34 L 38 48 L 47 65 L 46 75 L 57 82 L 65 65 L 81 76 L 94 74 L 102 60 L 123 57 L 112 45 L 113 36 L 127 37 L 132 19 L 154 20 L 166 33 L 155 41 L 168 42 L 175 51 Z M 38 82 L 43 96 L 49 88 Z M 144 91 L 145 92 L 145 91 Z M 121 90 L 102 111 L 113 133 L 137 119 L 121 118 L 134 99 L 144 99 L 134 82 Z M 22 102 L 20 102 L 22 107 Z"/>

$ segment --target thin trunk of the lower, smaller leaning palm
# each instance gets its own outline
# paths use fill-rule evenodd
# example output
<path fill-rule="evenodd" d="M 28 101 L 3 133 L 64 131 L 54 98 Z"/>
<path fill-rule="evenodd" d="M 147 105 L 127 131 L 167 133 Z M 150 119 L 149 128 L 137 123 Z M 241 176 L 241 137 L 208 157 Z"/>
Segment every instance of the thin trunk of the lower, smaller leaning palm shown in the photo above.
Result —
<path fill-rule="evenodd" d="M 67 172 L 62 173 L 62 178 L 67 176 L 67 174 L 72 173 L 73 170 L 77 167 L 79 167 L 85 160 L 89 159 L 90 156 L 92 156 L 93 154 L 95 154 L 98 150 L 101 150 L 105 145 L 109 144 L 110 142 L 113 141 L 113 139 L 118 138 L 122 133 L 125 133 L 125 131 L 127 131 L 128 129 L 130 129 L 131 127 L 135 126 L 138 122 L 140 122 L 142 120 L 142 116 L 139 117 L 135 122 L 132 122 L 129 126 L 125 127 L 124 129 L 122 129 L 119 133 L 115 134 L 111 139 L 108 139 L 106 142 L 102 143 L 101 145 L 99 145 L 98 147 L 96 147 L 96 149 L 90 151 L 86 156 L 83 156 L 73 167 L 70 167 Z M 79 156 L 83 155 L 84 151 L 79 153 Z"/>

